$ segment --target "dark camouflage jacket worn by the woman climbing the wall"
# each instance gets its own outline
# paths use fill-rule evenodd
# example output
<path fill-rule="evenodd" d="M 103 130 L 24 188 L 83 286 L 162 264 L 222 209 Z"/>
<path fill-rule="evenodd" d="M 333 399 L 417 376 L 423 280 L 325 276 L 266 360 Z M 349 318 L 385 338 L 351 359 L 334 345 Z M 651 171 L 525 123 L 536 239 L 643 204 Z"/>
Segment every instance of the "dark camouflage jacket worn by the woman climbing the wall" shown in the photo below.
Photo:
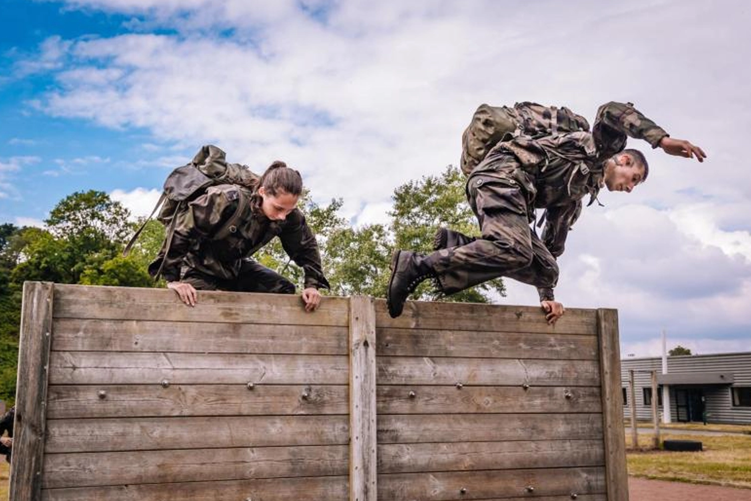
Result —
<path fill-rule="evenodd" d="M 246 216 L 240 217 L 230 231 L 218 235 L 237 210 L 240 197 L 251 200 Z M 318 243 L 300 210 L 293 210 L 284 221 L 271 221 L 249 190 L 237 185 L 218 185 L 210 186 L 190 202 L 177 218 L 169 255 L 165 258 L 162 250 L 149 266 L 153 273 L 164 259 L 162 275 L 167 282 L 179 280 L 183 266 L 220 279 L 236 279 L 243 258 L 279 237 L 285 252 L 303 268 L 305 286 L 329 287 L 321 269 Z"/>

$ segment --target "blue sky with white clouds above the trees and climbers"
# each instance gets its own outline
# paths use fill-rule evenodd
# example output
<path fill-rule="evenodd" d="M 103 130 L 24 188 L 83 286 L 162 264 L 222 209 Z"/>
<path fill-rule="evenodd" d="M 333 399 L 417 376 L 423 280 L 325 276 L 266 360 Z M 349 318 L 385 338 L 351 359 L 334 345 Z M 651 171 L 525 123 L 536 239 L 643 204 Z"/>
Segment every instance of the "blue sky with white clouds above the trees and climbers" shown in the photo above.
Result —
<path fill-rule="evenodd" d="M 663 328 L 751 350 L 747 2 L 5 0 L 2 20 L 0 222 L 41 224 L 87 189 L 146 213 L 205 143 L 288 161 L 352 224 L 385 222 L 396 186 L 457 163 L 482 102 L 591 120 L 632 101 L 709 158 L 632 141 L 650 179 L 585 210 L 557 295 L 618 308 L 625 353 L 656 354 Z"/>

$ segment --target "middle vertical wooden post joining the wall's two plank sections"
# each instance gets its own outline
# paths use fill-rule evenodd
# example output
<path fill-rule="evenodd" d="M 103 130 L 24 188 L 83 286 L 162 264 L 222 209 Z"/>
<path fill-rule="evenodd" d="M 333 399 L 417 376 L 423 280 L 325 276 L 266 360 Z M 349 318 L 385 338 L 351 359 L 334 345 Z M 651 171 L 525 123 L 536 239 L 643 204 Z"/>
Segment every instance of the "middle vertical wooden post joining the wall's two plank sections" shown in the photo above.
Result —
<path fill-rule="evenodd" d="M 375 304 L 349 299 L 349 499 L 375 501 Z"/>

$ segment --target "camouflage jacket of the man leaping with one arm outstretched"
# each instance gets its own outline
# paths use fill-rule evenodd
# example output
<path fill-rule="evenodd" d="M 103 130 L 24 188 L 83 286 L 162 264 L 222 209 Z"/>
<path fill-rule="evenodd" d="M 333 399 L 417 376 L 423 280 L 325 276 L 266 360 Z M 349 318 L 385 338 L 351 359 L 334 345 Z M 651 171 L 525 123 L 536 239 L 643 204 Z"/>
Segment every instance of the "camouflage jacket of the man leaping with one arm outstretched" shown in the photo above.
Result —
<path fill-rule="evenodd" d="M 535 219 L 535 208 L 544 209 L 541 238 L 558 257 L 581 213 L 582 198 L 590 195 L 590 204 L 596 200 L 605 161 L 623 151 L 626 137 L 644 139 L 656 148 L 667 135 L 633 104 L 610 102 L 599 108 L 591 133 L 519 136 L 496 144 L 472 171 L 470 180 L 484 174 L 519 186 L 526 195 L 530 221 Z M 552 291 L 547 292 L 552 298 Z"/>

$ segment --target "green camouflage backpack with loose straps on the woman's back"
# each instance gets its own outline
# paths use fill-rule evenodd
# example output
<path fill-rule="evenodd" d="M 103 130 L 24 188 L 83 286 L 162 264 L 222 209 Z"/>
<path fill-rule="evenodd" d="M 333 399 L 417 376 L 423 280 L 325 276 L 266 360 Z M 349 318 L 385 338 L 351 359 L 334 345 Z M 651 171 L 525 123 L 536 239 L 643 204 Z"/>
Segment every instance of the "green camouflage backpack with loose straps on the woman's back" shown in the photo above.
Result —
<path fill-rule="evenodd" d="M 209 144 L 202 146 L 189 164 L 185 164 L 172 171 L 167 176 L 167 180 L 164 181 L 164 191 L 161 193 L 161 197 L 159 197 L 154 210 L 151 211 L 149 217 L 146 218 L 133 237 L 131 237 L 131 240 L 128 241 L 128 245 L 125 246 L 122 255 L 128 255 L 128 252 L 130 252 L 131 247 L 136 242 L 141 231 L 143 231 L 146 223 L 159 210 L 159 207 L 161 207 L 161 210 L 159 210 L 156 219 L 167 228 L 164 243 L 161 246 L 164 249 L 164 255 L 167 255 L 167 252 L 170 252 L 177 216 L 188 207 L 190 201 L 203 195 L 209 186 L 236 184 L 250 191 L 255 190 L 258 180 L 260 180 L 258 174 L 252 173 L 246 165 L 228 164 L 225 157 L 226 153 L 222 149 Z M 237 209 L 231 218 L 228 219 L 228 222 L 213 235 L 214 240 L 222 240 L 222 238 L 231 233 L 232 229 L 237 226 L 237 222 L 243 216 L 243 213 L 246 212 L 250 200 L 248 196 L 243 195 L 243 190 L 240 190 L 240 194 Z M 161 267 L 159 267 L 156 273 L 157 277 L 160 275 Z"/>

